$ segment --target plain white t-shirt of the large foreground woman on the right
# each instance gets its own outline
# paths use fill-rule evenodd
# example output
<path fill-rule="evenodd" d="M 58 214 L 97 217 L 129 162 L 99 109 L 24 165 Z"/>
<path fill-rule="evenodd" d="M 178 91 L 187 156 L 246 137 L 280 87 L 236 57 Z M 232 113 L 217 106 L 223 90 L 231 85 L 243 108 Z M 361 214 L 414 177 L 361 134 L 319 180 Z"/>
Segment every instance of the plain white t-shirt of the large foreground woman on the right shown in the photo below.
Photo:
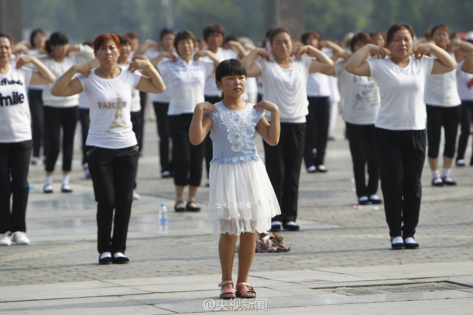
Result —
<path fill-rule="evenodd" d="M 432 73 L 434 58 L 409 57 L 406 68 L 399 67 L 389 58 L 370 58 L 366 62 L 381 97 L 374 125 L 389 130 L 425 129 L 424 85 Z"/>

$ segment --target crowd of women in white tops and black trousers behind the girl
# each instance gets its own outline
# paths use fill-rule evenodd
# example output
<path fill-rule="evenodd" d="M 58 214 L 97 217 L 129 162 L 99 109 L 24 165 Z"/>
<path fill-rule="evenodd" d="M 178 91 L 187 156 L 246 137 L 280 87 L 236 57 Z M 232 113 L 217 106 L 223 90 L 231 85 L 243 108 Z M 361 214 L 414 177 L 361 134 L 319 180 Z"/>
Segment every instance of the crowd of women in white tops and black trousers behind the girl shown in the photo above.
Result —
<path fill-rule="evenodd" d="M 203 161 L 209 178 L 215 154 L 209 135 L 194 145 L 189 129 L 196 105 L 223 100 L 215 71 L 235 59 L 246 72 L 241 99 L 252 105 L 267 100 L 279 111 L 277 144 L 263 142 L 280 207 L 270 230 L 299 230 L 302 162 L 308 173 L 329 171 L 327 142 L 341 110 L 357 203 L 384 203 L 392 248 L 417 248 L 426 151 L 433 186 L 456 185 L 454 158 L 458 167 L 473 165 L 473 157 L 465 161 L 473 117 L 473 32 L 451 34 L 436 25 L 425 34 L 417 37 L 409 24 L 396 23 L 386 32 L 348 33 L 339 45 L 313 30 L 297 38 L 276 27 L 255 45 L 208 24 L 201 40 L 189 30 L 164 28 L 157 41 L 104 33 L 70 45 L 59 31 L 47 36 L 35 29 L 29 41 L 18 43 L 0 33 L 0 244 L 29 243 L 30 164 L 44 165 L 44 193 L 57 187 L 73 192 L 73 140 L 80 122 L 84 176 L 92 179 L 97 201 L 99 261 L 128 262 L 124 251 L 131 204 L 139 198 L 134 189 L 146 98 L 157 118 L 161 177 L 174 180 L 174 210 L 199 211 Z M 238 145 L 231 135 L 228 140 Z M 56 187 L 52 175 L 60 152 L 62 180 Z M 383 200 L 377 196 L 379 179 Z"/>

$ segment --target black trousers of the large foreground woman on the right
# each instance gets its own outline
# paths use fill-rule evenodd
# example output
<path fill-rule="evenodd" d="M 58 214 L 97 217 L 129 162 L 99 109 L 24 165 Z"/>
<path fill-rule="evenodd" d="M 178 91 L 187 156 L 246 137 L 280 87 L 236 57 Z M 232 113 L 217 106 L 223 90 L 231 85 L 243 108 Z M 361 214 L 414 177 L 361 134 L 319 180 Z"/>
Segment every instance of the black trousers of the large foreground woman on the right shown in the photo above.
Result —
<path fill-rule="evenodd" d="M 412 237 L 419 221 L 424 130 L 375 128 L 384 211 L 391 237 Z M 401 227 L 401 224 L 402 227 Z"/>

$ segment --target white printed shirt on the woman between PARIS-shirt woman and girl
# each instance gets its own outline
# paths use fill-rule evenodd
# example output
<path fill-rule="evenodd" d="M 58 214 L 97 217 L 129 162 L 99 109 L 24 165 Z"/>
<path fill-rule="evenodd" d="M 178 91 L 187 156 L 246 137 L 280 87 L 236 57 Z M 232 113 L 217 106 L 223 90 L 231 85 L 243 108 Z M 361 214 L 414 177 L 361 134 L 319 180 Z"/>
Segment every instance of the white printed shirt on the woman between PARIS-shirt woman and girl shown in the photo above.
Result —
<path fill-rule="evenodd" d="M 175 54 L 177 61 L 169 59 L 157 65 L 171 95 L 167 111 L 170 116 L 193 113 L 195 106 L 204 102 L 204 83 L 214 70 L 214 62 L 204 58 L 196 61 L 194 54 L 189 63 Z"/>

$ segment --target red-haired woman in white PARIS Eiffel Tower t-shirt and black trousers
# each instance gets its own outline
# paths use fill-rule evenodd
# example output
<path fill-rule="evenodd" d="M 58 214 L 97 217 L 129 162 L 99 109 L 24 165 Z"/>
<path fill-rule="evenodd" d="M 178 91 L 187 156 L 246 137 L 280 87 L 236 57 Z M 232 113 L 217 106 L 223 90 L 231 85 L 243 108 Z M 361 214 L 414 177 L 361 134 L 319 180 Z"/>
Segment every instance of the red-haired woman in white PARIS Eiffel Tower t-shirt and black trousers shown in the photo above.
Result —
<path fill-rule="evenodd" d="M 117 35 L 97 36 L 94 53 L 99 67 L 91 69 L 90 63 L 76 64 L 51 89 L 53 95 L 62 97 L 84 91 L 89 100 L 90 128 L 86 143 L 91 147 L 87 154 L 97 201 L 100 264 L 129 261 L 123 253 L 138 159 L 130 120 L 131 89 L 147 93 L 166 89 L 161 76 L 147 60 L 136 59 L 128 69 L 120 68 L 119 51 Z M 146 69 L 149 77 L 135 71 L 138 69 Z"/>

